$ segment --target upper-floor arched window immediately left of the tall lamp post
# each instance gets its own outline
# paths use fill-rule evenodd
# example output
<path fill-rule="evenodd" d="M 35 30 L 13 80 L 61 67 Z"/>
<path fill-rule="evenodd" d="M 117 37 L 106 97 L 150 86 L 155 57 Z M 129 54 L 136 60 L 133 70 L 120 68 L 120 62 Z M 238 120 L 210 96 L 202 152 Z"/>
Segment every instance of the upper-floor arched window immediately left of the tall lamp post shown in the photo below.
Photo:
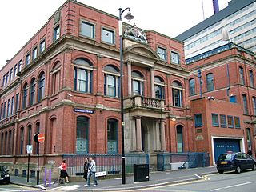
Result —
<path fill-rule="evenodd" d="M 104 70 L 104 94 L 110 97 L 119 97 L 120 74 L 118 68 L 108 65 Z"/>

